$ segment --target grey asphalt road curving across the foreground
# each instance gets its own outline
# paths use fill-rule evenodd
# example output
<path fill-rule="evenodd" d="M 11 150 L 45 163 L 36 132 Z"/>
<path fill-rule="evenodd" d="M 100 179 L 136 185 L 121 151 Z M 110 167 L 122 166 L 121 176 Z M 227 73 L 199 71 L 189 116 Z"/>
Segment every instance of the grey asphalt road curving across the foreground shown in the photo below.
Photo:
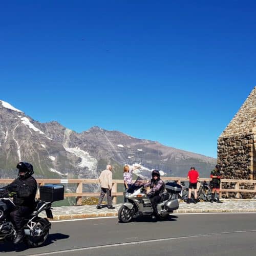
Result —
<path fill-rule="evenodd" d="M 255 255 L 256 214 L 173 215 L 118 223 L 117 218 L 52 224 L 41 248 L 0 244 L 4 255 Z"/>

